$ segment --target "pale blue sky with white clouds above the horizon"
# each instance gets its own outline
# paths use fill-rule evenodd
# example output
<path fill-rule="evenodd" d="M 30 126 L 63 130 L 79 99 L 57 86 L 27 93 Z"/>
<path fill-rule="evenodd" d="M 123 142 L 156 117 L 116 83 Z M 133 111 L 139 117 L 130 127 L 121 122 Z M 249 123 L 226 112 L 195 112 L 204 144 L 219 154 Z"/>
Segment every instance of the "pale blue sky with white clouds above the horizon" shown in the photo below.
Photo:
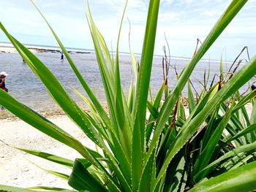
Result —
<path fill-rule="evenodd" d="M 84 0 L 34 0 L 56 31 L 65 47 L 93 49 L 86 21 Z M 162 0 L 160 1 L 155 55 L 163 55 L 163 46 L 170 55 L 191 58 L 197 38 L 201 42 L 230 4 L 231 0 Z M 129 0 L 121 31 L 119 50 L 141 53 L 146 28 L 148 0 Z M 116 50 L 118 28 L 125 0 L 91 0 L 91 14 L 109 49 Z M 249 0 L 238 12 L 219 39 L 203 58 L 233 61 L 244 46 L 250 57 L 256 53 L 256 0 Z M 23 44 L 58 46 L 48 26 L 29 0 L 1 0 L 0 21 L 12 36 Z M 8 42 L 0 31 L 0 42 Z M 246 54 L 242 55 L 246 58 Z"/>

